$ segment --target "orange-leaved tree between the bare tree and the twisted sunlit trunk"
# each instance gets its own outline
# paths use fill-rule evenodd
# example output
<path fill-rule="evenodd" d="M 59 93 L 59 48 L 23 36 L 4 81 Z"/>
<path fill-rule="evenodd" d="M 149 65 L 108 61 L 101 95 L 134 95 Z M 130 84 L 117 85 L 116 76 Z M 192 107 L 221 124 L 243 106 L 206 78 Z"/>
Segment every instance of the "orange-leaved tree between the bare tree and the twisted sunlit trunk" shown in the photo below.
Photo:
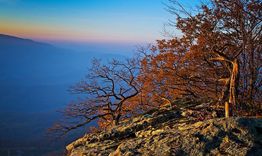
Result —
<path fill-rule="evenodd" d="M 214 65 L 204 64 L 203 57 L 192 55 L 177 39 L 157 40 L 157 46 L 140 47 L 144 54 L 141 61 L 145 82 L 142 89 L 161 105 L 179 98 L 214 97 L 219 90 L 212 82 L 220 74 L 210 72 Z"/>

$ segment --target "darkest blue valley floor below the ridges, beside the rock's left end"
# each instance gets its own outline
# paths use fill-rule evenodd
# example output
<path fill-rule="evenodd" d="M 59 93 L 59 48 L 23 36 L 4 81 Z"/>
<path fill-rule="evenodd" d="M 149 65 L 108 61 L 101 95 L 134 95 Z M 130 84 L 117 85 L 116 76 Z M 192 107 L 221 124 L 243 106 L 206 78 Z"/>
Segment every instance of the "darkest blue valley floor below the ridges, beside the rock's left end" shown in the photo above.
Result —
<path fill-rule="evenodd" d="M 72 131 L 62 141 L 46 142 L 48 138 L 42 136 L 46 126 L 52 126 L 54 120 L 62 117 L 59 113 L 22 113 L 15 111 L 0 112 L 0 155 L 7 155 L 8 148 L 12 155 L 21 149 L 25 155 L 49 155 L 48 152 L 57 151 L 56 155 L 61 155 L 60 151 L 69 143 L 82 137 L 86 130 L 80 129 Z M 90 123 L 86 126 L 94 126 Z"/>

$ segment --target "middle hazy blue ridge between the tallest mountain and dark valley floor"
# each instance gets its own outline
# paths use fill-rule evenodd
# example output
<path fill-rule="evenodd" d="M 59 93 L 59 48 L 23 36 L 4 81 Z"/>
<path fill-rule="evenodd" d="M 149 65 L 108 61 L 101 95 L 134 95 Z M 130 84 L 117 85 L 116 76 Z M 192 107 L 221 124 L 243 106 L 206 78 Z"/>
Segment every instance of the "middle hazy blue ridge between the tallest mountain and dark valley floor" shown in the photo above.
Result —
<path fill-rule="evenodd" d="M 0 85 L 1 110 L 20 112 L 53 111 L 63 108 L 63 102 L 70 102 L 70 96 L 64 85 Z"/>

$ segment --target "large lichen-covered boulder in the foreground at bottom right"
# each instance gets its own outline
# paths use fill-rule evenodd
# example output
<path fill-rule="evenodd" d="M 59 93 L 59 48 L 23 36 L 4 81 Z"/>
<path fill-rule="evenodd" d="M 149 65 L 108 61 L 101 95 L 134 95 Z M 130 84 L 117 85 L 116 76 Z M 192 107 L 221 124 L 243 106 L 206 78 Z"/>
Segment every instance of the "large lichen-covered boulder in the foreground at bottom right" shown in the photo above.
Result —
<path fill-rule="evenodd" d="M 217 118 L 133 138 L 110 155 L 262 155 L 261 119 Z"/>

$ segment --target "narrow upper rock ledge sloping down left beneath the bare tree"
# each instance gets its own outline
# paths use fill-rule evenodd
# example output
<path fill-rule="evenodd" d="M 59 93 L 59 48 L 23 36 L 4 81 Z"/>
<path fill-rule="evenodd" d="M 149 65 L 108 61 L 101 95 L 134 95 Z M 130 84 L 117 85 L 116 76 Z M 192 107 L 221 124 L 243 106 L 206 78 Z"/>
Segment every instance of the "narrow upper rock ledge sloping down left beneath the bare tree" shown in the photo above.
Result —
<path fill-rule="evenodd" d="M 79 146 L 88 145 L 97 141 L 135 137 L 135 132 L 148 128 L 149 126 L 154 126 L 159 123 L 164 123 L 170 119 L 180 117 L 180 115 L 176 113 L 177 112 L 174 110 L 154 109 L 149 111 L 147 114 L 140 114 L 135 118 L 125 120 L 118 126 L 107 129 L 106 133 L 103 131 L 102 134 L 88 134 L 86 137 L 80 138 L 79 140 L 71 143 L 66 148 L 68 151 L 71 151 Z"/>

